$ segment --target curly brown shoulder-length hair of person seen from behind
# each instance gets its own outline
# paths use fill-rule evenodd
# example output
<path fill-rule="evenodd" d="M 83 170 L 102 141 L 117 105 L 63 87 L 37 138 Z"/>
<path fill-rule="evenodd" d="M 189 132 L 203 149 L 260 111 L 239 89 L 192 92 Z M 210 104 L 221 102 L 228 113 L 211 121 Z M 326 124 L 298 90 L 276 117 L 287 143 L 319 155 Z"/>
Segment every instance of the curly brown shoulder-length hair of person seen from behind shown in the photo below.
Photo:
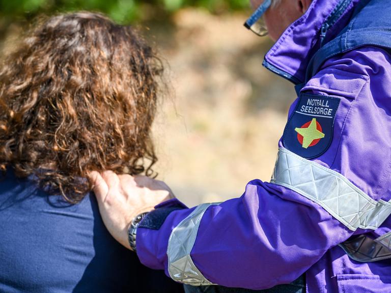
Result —
<path fill-rule="evenodd" d="M 152 175 L 162 70 L 130 26 L 91 12 L 47 19 L 0 68 L 0 168 L 71 203 L 91 170 Z"/>

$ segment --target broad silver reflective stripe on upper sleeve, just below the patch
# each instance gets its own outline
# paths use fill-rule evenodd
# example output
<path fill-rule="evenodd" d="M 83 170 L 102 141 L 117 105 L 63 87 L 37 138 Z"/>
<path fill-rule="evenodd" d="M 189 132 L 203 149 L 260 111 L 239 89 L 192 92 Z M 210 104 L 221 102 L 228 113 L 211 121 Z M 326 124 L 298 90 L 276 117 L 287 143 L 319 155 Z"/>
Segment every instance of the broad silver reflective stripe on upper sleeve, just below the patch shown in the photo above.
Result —
<path fill-rule="evenodd" d="M 376 201 L 340 173 L 283 148 L 271 182 L 315 201 L 352 231 L 375 230 L 391 214 L 391 201 Z"/>

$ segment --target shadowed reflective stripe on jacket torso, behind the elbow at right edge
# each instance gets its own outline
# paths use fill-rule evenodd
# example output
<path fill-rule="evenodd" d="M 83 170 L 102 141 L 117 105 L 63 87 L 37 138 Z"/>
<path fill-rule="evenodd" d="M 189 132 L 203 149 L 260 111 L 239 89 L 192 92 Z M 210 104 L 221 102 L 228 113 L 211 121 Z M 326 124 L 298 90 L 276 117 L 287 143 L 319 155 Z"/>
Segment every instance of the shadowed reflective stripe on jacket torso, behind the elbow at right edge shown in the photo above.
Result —
<path fill-rule="evenodd" d="M 380 238 L 383 237 L 385 235 Z M 373 240 L 365 235 L 359 235 L 348 239 L 339 246 L 345 250 L 350 258 L 360 262 L 389 259 L 391 258 L 391 250 L 378 241 L 380 238 Z"/>

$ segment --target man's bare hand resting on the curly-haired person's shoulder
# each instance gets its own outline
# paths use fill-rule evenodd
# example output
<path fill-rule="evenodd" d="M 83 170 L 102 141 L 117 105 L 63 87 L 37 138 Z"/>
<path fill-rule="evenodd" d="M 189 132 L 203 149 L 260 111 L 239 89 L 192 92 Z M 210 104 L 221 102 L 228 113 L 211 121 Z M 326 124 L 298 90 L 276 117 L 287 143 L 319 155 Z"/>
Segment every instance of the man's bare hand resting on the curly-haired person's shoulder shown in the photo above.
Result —
<path fill-rule="evenodd" d="M 110 234 L 130 249 L 128 228 L 131 221 L 174 195 L 162 181 L 145 176 L 117 175 L 112 171 L 90 173 L 99 211 Z"/>

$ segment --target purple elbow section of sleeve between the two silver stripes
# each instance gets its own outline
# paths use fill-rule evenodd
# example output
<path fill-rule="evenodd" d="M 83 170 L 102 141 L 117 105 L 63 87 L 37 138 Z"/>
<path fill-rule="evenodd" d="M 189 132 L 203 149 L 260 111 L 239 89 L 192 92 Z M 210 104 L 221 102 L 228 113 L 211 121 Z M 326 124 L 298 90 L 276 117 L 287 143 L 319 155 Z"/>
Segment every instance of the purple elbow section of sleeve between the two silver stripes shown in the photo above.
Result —
<path fill-rule="evenodd" d="M 256 182 L 241 198 L 208 209 L 191 250 L 194 265 L 210 282 L 228 287 L 265 289 L 297 279 L 350 231 L 294 196 L 283 199 Z"/>

